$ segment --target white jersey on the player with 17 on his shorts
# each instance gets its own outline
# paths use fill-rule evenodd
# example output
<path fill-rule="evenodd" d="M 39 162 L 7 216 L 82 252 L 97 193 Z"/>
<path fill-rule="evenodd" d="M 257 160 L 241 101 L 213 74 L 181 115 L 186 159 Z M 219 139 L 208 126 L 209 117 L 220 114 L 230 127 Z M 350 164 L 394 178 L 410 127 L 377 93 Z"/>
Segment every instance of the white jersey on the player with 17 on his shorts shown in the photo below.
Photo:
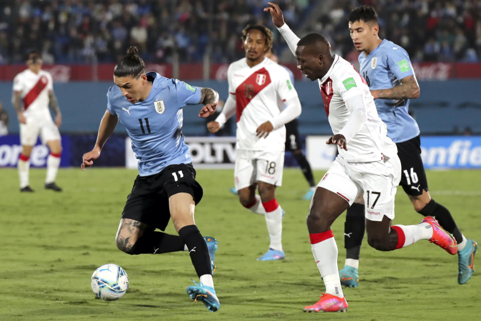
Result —
<path fill-rule="evenodd" d="M 382 154 L 397 154 L 396 145 L 386 135 L 386 124 L 379 118 L 369 87 L 353 65 L 335 55 L 331 68 L 319 79 L 319 87 L 334 134 L 339 133 L 351 115 L 345 101 L 355 95 L 364 96 L 367 109 L 364 126 L 348 141 L 348 150 L 338 146 L 339 154 L 347 162 L 373 162 L 381 159 Z"/>

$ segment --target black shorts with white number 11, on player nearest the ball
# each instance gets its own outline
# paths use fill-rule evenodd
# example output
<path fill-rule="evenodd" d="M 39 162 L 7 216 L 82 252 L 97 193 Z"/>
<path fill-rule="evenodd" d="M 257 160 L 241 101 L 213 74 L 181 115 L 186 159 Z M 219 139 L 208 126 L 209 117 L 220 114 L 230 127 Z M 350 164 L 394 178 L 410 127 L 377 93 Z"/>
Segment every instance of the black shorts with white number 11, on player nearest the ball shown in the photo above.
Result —
<path fill-rule="evenodd" d="M 192 164 L 170 165 L 160 173 L 137 176 L 122 218 L 164 231 L 170 220 L 169 197 L 177 193 L 192 195 L 195 205 L 202 199 L 202 187 L 195 181 Z"/>

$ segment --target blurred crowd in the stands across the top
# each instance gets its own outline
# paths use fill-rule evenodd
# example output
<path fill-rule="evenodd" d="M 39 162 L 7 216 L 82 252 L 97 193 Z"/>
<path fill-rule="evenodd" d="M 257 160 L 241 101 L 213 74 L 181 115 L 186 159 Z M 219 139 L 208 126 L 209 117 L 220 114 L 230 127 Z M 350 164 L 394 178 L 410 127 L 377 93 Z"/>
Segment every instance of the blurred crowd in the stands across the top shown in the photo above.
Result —
<path fill-rule="evenodd" d="M 347 18 L 358 5 L 378 12 L 380 35 L 403 46 L 413 61 L 481 60 L 479 0 L 336 0 L 304 26 L 316 0 L 279 0 L 293 30 L 326 34 L 336 52 L 354 56 Z M 267 0 L 1 0 L 0 63 L 22 63 L 35 48 L 45 63 L 115 62 L 128 45 L 151 62 L 227 63 L 243 57 L 247 24 L 273 29 Z M 324 8 L 325 9 L 325 8 Z M 307 29 L 306 29 L 307 28 Z M 276 52 L 286 48 L 277 32 Z M 174 55 L 174 53 L 176 53 Z M 356 60 L 356 59 L 353 59 Z"/>

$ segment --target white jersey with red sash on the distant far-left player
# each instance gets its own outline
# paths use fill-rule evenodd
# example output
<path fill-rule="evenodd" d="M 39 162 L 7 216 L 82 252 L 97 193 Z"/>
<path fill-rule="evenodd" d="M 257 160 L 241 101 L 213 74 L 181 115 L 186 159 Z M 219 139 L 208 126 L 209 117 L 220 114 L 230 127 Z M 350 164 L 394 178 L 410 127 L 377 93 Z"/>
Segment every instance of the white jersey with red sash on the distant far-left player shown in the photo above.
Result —
<path fill-rule="evenodd" d="M 22 93 L 25 117 L 52 119 L 49 110 L 49 91 L 53 90 L 50 73 L 41 70 L 36 74 L 26 69 L 15 76 L 13 89 Z"/>

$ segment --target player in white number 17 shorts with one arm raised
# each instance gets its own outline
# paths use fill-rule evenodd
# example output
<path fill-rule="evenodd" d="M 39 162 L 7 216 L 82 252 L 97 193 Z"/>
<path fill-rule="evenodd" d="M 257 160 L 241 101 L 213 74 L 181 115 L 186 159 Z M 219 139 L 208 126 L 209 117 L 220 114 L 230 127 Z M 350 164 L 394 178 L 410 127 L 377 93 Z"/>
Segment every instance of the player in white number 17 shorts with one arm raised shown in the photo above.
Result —
<path fill-rule="evenodd" d="M 318 79 L 334 133 L 326 143 L 337 144 L 339 151 L 318 184 L 307 217 L 311 248 L 326 293 L 304 311 L 347 311 L 331 224 L 358 195 L 362 194 L 365 202 L 368 243 L 377 250 L 392 251 L 425 239 L 455 254 L 456 240 L 430 216 L 417 225 L 391 226 L 401 163 L 369 87 L 349 62 L 331 53 L 325 36 L 312 33 L 299 39 L 284 23 L 279 7 L 269 5 L 265 11 L 271 13 L 274 25 L 296 55 L 298 67 L 309 79 Z"/>

